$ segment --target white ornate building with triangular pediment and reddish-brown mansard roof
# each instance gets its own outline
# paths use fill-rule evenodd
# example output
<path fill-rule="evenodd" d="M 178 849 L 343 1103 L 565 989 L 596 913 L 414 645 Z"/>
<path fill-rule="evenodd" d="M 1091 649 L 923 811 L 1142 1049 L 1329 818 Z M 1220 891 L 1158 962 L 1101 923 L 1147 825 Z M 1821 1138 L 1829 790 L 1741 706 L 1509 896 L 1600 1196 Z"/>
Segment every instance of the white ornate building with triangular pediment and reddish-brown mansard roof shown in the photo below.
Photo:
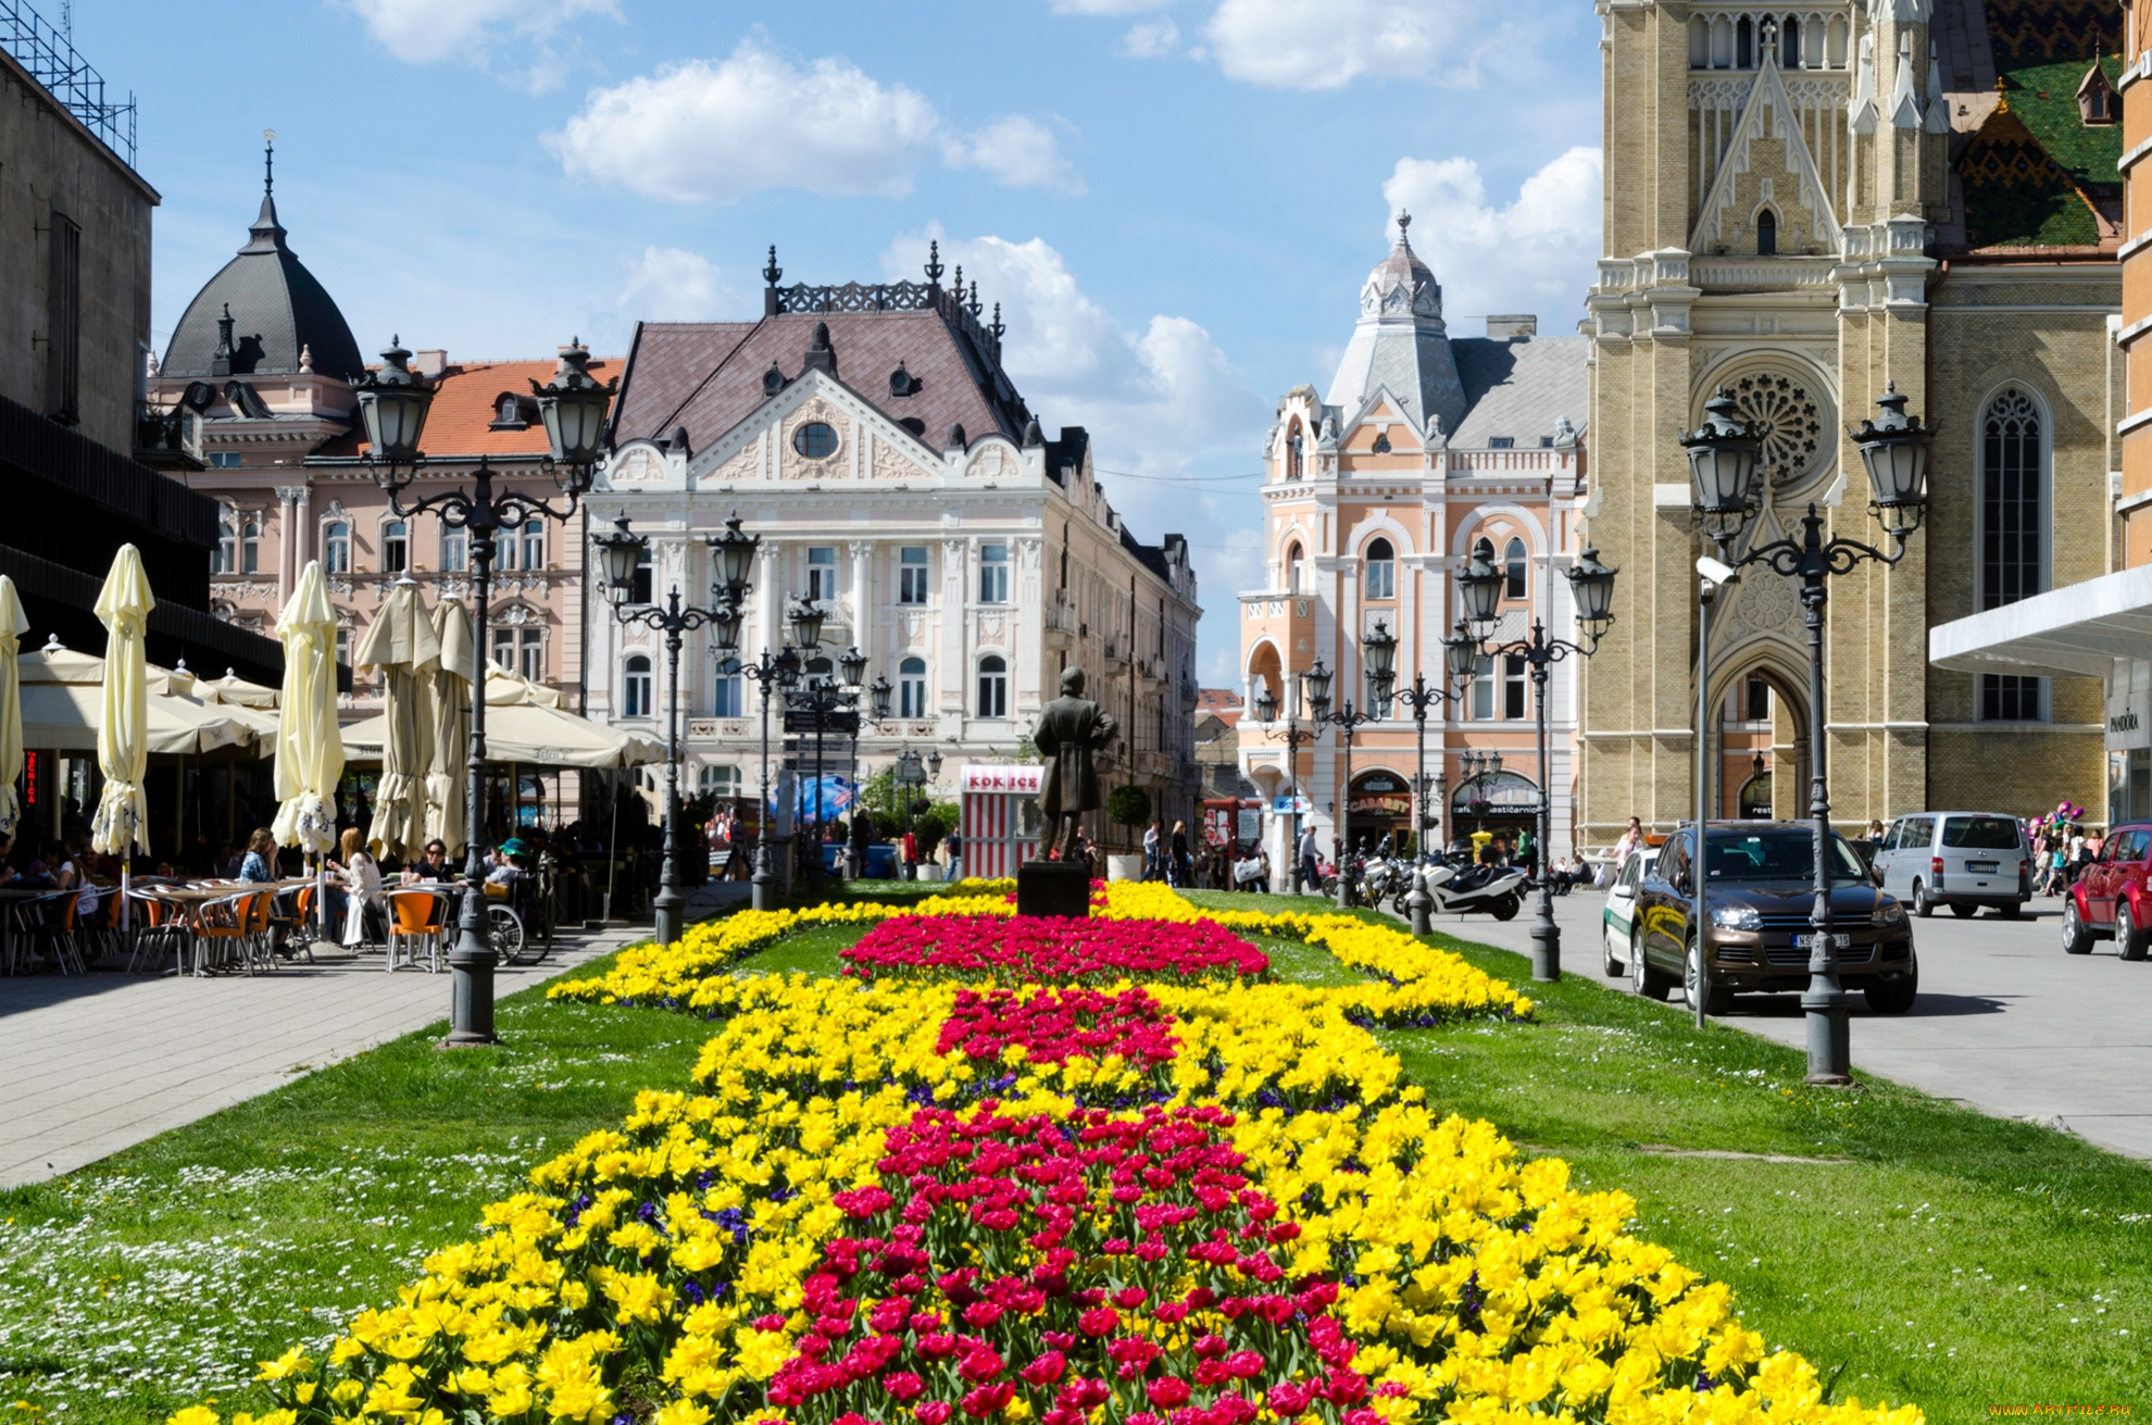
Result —
<path fill-rule="evenodd" d="M 779 288 L 773 252 L 760 321 L 639 323 L 590 525 L 626 514 L 652 540 L 648 596 L 689 603 L 710 603 L 706 536 L 732 514 L 760 534 L 740 659 L 781 648 L 788 603 L 816 598 L 822 672 L 856 646 L 867 680 L 895 685 L 891 721 L 861 732 L 861 779 L 938 747 L 949 796 L 964 764 L 1024 758 L 1061 672 L 1082 667 L 1121 723 L 1106 786 L 1192 820 L 1203 611 L 1188 542 L 1128 532 L 1087 433 L 1046 439 L 1003 372 L 999 308 L 979 321 L 977 288 L 966 299 L 940 271 Z M 663 635 L 618 624 L 603 592 L 585 624 L 590 717 L 663 736 Z M 751 796 L 760 689 L 723 672 L 708 633 L 682 650 L 680 700 L 682 784 Z M 773 700 L 773 768 L 781 721 Z M 811 736 L 801 753 L 811 771 Z M 848 756 L 841 738 L 824 747 L 829 771 Z M 1104 816 L 1091 835 L 1128 840 Z"/>

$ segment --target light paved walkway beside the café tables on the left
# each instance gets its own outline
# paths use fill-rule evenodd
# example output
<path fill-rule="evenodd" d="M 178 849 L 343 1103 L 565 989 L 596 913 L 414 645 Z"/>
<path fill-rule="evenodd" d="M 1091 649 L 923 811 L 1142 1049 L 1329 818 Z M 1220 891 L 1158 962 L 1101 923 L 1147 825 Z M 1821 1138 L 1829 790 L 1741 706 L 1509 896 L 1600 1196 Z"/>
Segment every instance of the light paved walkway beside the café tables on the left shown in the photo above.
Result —
<path fill-rule="evenodd" d="M 499 997 L 648 930 L 564 934 L 544 964 L 495 971 Z M 209 979 L 0 979 L 0 1188 L 97 1162 L 293 1074 L 448 1018 L 450 975 L 383 973 L 381 956 Z"/>

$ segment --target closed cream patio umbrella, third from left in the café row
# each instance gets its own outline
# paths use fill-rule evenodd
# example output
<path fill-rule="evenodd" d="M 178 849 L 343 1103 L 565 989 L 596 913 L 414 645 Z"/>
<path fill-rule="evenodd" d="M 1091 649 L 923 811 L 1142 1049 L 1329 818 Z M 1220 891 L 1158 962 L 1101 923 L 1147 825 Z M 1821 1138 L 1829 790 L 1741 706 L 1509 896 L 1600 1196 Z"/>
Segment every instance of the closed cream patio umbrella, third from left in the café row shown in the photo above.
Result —
<path fill-rule="evenodd" d="M 321 562 L 308 560 L 278 616 L 284 644 L 282 719 L 275 734 L 278 846 L 325 855 L 336 844 L 336 781 L 344 738 L 336 730 L 336 609 Z"/>

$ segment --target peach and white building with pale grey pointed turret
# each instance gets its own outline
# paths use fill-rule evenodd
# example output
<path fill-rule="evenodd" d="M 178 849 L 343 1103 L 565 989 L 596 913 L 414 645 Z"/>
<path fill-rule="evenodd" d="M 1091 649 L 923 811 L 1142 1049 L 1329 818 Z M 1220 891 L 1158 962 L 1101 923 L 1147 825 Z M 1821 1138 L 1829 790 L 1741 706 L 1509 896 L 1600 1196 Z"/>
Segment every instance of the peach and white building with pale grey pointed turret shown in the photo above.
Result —
<path fill-rule="evenodd" d="M 1240 596 L 1242 674 L 1250 712 L 1240 762 L 1276 814 L 1265 829 L 1274 865 L 1289 865 L 1289 794 L 1328 848 L 1341 835 L 1373 844 L 1412 831 L 1416 725 L 1412 708 L 1351 734 L 1321 728 L 1287 758 L 1287 717 L 1306 732 L 1300 680 L 1321 663 L 1334 706 L 1367 706 L 1360 637 L 1382 624 L 1399 639 L 1397 682 L 1444 682 L 1442 637 L 1461 616 L 1455 570 L 1478 551 L 1509 575 L 1491 641 L 1528 635 L 1534 620 L 1575 637 L 1567 581 L 1575 523 L 1588 504 L 1586 342 L 1543 338 L 1532 316 L 1489 316 L 1487 336 L 1453 338 L 1435 273 L 1407 241 L 1360 288 L 1360 314 L 1328 394 L 1287 392 L 1265 443 L 1265 581 Z M 1524 829 L 1552 794 L 1554 857 L 1575 857 L 1575 665 L 1549 682 L 1549 766 L 1534 756 L 1534 708 L 1524 659 L 1481 661 L 1461 697 L 1427 708 L 1433 827 L 1444 842 L 1476 829 Z M 1280 702 L 1255 719 L 1261 693 Z M 1466 775 L 1463 753 L 1500 753 L 1500 771 Z M 1534 827 L 1537 833 L 1537 827 Z"/>

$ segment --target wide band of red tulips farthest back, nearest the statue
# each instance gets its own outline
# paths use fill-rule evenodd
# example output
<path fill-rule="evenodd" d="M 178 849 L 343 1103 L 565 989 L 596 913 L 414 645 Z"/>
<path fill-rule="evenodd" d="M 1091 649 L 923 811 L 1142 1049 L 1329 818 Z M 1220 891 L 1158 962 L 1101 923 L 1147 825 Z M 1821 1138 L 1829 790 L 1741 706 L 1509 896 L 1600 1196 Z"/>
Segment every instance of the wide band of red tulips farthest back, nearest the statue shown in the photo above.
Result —
<path fill-rule="evenodd" d="M 1117 979 L 1233 979 L 1270 969 L 1218 921 L 1132 923 L 1035 915 L 908 915 L 882 921 L 844 951 L 861 977 L 1113 984 Z"/>

